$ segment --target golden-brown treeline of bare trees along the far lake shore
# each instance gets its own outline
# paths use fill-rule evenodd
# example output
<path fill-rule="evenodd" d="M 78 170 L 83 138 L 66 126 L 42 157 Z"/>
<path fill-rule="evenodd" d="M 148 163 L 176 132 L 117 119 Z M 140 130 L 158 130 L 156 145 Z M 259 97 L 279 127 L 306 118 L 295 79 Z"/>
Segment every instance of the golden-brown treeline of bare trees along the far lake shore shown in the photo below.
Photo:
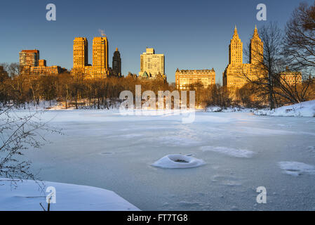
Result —
<path fill-rule="evenodd" d="M 13 104 L 25 108 L 26 103 L 39 105 L 40 101 L 57 100 L 63 108 L 87 107 L 110 108 L 119 106 L 121 91 L 131 91 L 135 96 L 135 86 L 141 85 L 141 91 L 175 91 L 175 86 L 163 79 L 139 79 L 135 76 L 107 77 L 105 79 L 83 79 L 83 75 L 72 76 L 69 73 L 60 75 L 18 75 L 18 64 L 0 66 L 0 101 L 3 105 Z M 300 90 L 304 84 L 294 89 Z M 256 84 L 248 83 L 236 92 L 232 98 L 220 84 L 203 86 L 201 83 L 187 86 L 195 91 L 196 107 L 218 105 L 222 107 L 241 106 L 262 108 L 268 105 L 268 93 L 261 91 Z M 188 94 L 187 94 L 188 95 Z M 285 98 L 276 96 L 277 106 L 288 103 Z M 315 99 L 315 82 L 309 83 L 304 100 Z"/>

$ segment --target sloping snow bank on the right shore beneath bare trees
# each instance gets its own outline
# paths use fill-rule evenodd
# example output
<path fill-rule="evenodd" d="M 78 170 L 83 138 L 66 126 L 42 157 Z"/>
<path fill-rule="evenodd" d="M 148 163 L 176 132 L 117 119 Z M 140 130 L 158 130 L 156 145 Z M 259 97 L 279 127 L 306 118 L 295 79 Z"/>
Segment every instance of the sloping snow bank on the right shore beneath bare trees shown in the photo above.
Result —
<path fill-rule="evenodd" d="M 283 117 L 315 117 L 315 100 L 283 106 L 274 110 L 255 110 L 254 114 Z"/>

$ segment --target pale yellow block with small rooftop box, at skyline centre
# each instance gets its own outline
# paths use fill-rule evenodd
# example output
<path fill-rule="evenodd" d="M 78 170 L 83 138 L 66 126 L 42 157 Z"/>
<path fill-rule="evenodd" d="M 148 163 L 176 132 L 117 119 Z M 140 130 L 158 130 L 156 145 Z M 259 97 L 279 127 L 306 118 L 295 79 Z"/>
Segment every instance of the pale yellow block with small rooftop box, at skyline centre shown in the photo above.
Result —
<path fill-rule="evenodd" d="M 154 49 L 146 49 L 140 56 L 139 76 L 147 74 L 149 77 L 163 77 L 165 79 L 164 54 L 156 54 Z"/>

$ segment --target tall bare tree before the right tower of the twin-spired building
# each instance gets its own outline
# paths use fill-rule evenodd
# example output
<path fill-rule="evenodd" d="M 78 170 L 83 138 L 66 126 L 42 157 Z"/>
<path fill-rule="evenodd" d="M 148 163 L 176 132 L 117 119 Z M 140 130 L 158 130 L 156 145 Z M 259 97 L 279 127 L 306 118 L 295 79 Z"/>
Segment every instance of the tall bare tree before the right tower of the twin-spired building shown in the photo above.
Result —
<path fill-rule="evenodd" d="M 269 23 L 260 28 L 259 35 L 262 43 L 251 43 L 245 51 L 250 56 L 252 65 L 250 72 L 243 71 L 243 76 L 255 84 L 262 95 L 268 96 L 270 109 L 286 103 L 305 101 L 309 82 L 292 84 L 286 79 L 288 67 L 283 56 L 282 31 L 276 23 Z M 295 71 L 293 74 L 298 76 L 299 72 Z"/>

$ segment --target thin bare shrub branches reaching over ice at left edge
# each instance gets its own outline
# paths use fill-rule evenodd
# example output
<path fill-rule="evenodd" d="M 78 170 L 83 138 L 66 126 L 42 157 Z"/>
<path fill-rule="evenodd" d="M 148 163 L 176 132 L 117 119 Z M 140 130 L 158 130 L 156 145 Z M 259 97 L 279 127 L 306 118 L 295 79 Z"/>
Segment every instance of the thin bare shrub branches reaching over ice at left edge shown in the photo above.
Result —
<path fill-rule="evenodd" d="M 46 142 L 43 133 L 60 133 L 41 122 L 41 113 L 19 115 L 12 106 L 0 109 L 0 176 L 11 179 L 15 185 L 20 179 L 36 179 L 25 151 L 41 147 Z"/>

